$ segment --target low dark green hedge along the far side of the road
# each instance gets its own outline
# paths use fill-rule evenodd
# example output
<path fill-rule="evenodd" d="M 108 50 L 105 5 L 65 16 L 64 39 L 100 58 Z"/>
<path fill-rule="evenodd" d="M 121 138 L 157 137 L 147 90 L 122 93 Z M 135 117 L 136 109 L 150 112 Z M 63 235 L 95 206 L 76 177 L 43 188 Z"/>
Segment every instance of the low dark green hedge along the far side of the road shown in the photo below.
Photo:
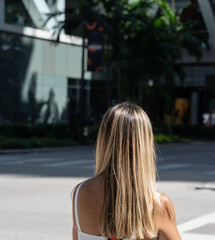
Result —
<path fill-rule="evenodd" d="M 3 131 L 3 129 L 5 131 Z M 80 142 L 68 133 L 68 125 L 0 125 L 0 149 L 44 148 L 76 146 L 79 144 L 96 144 L 99 124 L 88 126 L 86 136 Z M 154 127 L 157 143 L 179 142 L 187 139 L 215 139 L 215 127 L 173 125 L 168 134 L 168 126 Z"/>

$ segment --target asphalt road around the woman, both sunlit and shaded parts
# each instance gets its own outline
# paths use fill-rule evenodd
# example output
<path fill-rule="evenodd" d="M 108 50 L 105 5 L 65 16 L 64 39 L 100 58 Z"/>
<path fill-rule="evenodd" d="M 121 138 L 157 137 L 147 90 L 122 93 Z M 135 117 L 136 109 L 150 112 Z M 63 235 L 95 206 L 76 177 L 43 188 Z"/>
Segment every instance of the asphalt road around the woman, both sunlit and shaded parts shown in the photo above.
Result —
<path fill-rule="evenodd" d="M 72 239 L 71 192 L 93 175 L 94 150 L 1 154 L 0 239 Z M 215 240 L 215 142 L 159 145 L 157 166 L 182 239 Z"/>

